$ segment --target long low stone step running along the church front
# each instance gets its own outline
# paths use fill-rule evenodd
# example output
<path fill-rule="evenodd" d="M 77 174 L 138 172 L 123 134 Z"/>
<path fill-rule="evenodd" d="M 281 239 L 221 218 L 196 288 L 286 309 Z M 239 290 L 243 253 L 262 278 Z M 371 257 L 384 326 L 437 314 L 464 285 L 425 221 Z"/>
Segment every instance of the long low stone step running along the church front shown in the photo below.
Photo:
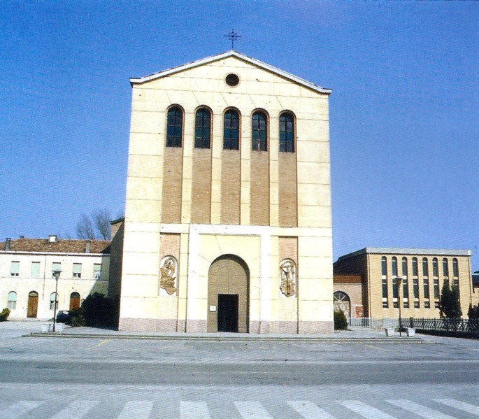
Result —
<path fill-rule="evenodd" d="M 22 337 L 64 338 L 64 339 L 131 339 L 150 341 L 236 341 L 236 342 L 310 342 L 310 343 L 426 343 L 419 337 L 378 336 L 378 337 L 337 337 L 337 336 L 194 336 L 178 334 L 144 335 L 144 334 L 73 334 L 57 332 L 32 332 Z"/>

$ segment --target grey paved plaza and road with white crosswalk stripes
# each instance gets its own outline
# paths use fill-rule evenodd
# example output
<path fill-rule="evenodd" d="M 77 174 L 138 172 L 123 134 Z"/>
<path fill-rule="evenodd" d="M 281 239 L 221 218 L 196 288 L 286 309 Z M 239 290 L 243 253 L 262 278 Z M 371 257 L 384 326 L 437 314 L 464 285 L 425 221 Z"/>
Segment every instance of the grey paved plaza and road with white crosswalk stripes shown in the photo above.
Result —
<path fill-rule="evenodd" d="M 479 345 L 469 339 L 28 336 L 41 324 L 0 323 L 0 418 L 479 417 Z"/>

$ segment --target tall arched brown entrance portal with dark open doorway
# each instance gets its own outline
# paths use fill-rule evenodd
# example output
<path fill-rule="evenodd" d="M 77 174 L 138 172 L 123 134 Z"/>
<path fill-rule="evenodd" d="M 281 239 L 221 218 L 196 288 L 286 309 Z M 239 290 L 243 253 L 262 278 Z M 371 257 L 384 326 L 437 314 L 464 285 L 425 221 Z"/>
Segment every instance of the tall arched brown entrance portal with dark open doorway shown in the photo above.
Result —
<path fill-rule="evenodd" d="M 217 258 L 208 272 L 208 332 L 248 333 L 250 270 L 235 255 Z"/>

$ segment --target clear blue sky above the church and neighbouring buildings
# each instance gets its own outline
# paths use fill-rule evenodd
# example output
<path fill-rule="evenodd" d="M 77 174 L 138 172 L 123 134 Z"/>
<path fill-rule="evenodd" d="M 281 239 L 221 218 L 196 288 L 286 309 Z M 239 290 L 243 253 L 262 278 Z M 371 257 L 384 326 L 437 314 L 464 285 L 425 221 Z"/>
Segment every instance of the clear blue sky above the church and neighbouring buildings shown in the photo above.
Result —
<path fill-rule="evenodd" d="M 473 250 L 479 2 L 28 1 L 0 8 L 0 239 L 124 211 L 130 77 L 235 49 L 333 90 L 334 259 Z"/>

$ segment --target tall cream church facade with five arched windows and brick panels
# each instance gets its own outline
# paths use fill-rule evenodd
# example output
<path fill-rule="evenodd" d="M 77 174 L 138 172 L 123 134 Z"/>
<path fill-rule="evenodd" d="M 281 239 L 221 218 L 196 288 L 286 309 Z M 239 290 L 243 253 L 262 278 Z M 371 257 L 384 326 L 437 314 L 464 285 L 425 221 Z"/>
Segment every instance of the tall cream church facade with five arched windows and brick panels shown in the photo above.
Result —
<path fill-rule="evenodd" d="M 130 82 L 119 329 L 332 332 L 331 90 L 233 50 Z"/>

